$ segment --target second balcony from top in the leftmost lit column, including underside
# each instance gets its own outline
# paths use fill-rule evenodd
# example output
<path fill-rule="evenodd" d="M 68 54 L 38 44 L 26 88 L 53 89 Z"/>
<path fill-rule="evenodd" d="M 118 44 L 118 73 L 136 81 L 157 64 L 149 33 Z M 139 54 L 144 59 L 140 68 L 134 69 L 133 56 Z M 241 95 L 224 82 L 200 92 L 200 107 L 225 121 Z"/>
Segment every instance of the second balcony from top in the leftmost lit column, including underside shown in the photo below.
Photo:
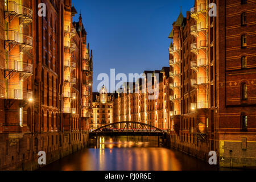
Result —
<path fill-rule="evenodd" d="M 20 51 L 28 51 L 32 49 L 33 38 L 30 35 L 19 33 L 15 30 L 5 31 L 5 42 L 10 44 L 18 44 Z"/>

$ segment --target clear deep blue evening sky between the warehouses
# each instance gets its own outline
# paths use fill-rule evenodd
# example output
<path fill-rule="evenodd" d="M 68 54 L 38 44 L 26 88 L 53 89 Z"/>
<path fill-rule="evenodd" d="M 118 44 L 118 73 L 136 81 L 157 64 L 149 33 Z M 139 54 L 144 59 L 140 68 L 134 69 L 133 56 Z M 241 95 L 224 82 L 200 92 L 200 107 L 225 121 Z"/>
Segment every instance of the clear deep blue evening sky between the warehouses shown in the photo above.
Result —
<path fill-rule="evenodd" d="M 168 67 L 171 25 L 193 0 L 73 0 L 93 49 L 93 91 L 100 73 L 142 73 Z M 79 13 L 73 18 L 78 20 Z M 117 82 L 116 82 L 117 83 Z"/>

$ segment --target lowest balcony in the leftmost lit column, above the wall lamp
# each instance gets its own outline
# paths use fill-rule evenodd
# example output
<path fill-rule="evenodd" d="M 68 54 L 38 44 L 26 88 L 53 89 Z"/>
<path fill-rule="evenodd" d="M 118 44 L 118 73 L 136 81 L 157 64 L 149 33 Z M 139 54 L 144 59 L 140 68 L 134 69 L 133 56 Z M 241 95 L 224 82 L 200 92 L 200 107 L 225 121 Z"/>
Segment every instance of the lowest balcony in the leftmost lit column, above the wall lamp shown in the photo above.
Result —
<path fill-rule="evenodd" d="M 5 98 L 14 100 L 30 100 L 33 96 L 32 91 L 20 89 L 5 89 Z"/>

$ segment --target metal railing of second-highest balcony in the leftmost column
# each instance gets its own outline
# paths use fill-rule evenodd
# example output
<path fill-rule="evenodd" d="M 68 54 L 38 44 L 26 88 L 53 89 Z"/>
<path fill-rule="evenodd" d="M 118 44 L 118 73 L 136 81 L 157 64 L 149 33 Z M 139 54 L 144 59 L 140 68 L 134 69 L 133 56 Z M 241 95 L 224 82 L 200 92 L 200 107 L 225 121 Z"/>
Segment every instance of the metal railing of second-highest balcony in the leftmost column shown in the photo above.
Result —
<path fill-rule="evenodd" d="M 15 30 L 5 31 L 5 41 L 7 42 L 15 42 L 18 44 L 25 44 L 26 46 L 32 47 L 33 38 L 30 35 L 19 33 Z"/>

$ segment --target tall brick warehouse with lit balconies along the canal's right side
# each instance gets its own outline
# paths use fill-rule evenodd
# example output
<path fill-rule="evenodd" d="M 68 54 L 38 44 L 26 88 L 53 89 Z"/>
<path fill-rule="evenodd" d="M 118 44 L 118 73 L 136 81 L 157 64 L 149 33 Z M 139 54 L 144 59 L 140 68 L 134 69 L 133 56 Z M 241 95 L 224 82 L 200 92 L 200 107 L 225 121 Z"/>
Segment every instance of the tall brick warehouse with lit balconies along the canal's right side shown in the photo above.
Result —
<path fill-rule="evenodd" d="M 216 3 L 216 17 L 209 3 Z M 172 100 L 171 146 L 204 160 L 216 151 L 220 166 L 256 166 L 255 7 L 196 0 L 169 37 L 171 97 L 180 93 Z"/>

